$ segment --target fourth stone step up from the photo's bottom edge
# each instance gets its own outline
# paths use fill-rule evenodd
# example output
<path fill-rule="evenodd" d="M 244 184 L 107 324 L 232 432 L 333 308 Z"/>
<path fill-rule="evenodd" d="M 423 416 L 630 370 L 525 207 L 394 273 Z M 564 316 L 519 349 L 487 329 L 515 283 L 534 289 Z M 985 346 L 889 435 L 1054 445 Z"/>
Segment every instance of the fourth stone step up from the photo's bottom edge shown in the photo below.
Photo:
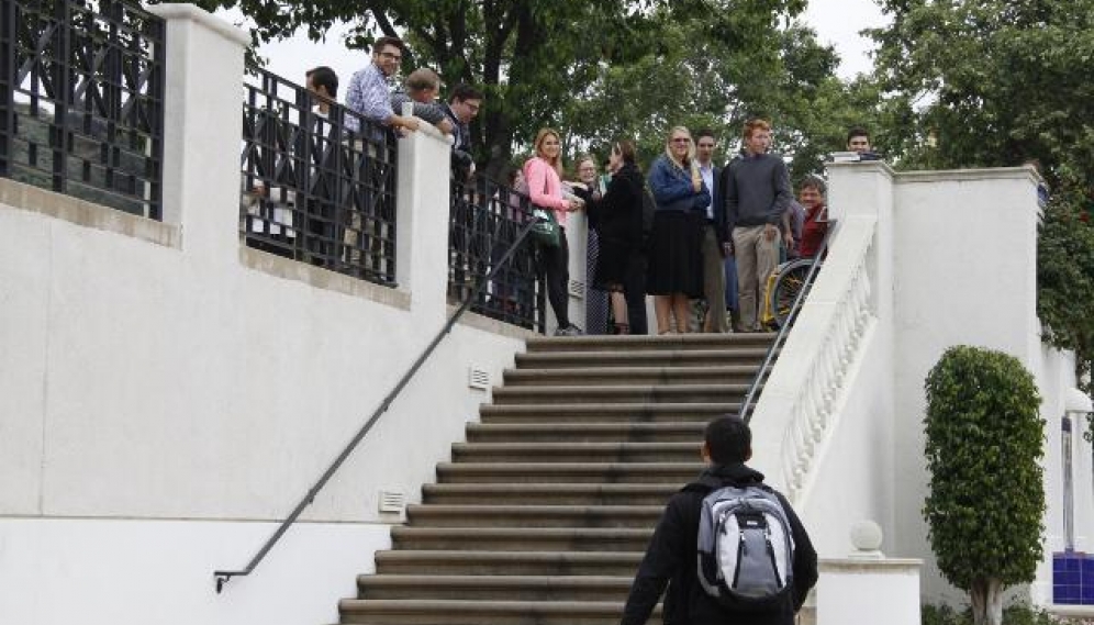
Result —
<path fill-rule="evenodd" d="M 585 527 L 391 528 L 397 549 L 489 551 L 645 551 L 654 531 Z"/>

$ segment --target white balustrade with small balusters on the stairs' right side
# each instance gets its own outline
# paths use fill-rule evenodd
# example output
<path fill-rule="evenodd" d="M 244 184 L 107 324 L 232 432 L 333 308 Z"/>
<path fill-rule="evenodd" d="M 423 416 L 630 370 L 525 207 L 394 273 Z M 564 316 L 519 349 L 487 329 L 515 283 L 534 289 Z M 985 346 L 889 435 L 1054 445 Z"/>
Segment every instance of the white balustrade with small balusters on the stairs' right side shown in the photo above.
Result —
<path fill-rule="evenodd" d="M 799 317 L 803 332 L 816 337 L 800 351 L 783 353 L 808 362 L 796 380 L 797 394 L 783 439 L 783 478 L 788 494 L 805 488 L 816 446 L 829 427 L 847 373 L 875 316 L 870 275 L 874 222 L 847 220 L 840 224 L 838 253 L 825 259 L 825 282 L 818 282 Z M 812 319 L 810 319 L 812 317 Z"/>

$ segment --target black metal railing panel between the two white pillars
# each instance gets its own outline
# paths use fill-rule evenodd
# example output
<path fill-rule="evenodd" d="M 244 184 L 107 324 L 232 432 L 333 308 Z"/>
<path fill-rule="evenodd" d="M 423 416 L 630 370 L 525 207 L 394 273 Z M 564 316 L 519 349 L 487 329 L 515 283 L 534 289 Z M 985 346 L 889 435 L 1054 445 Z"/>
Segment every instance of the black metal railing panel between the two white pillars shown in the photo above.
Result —
<path fill-rule="evenodd" d="M 239 196 L 247 245 L 394 286 L 394 135 L 275 74 L 249 72 Z"/>

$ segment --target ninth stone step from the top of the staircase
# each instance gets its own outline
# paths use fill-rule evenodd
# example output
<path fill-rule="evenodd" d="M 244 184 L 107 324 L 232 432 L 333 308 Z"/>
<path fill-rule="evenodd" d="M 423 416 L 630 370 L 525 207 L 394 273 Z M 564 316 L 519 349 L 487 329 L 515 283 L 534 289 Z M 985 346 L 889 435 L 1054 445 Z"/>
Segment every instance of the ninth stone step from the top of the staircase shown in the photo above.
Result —
<path fill-rule="evenodd" d="M 665 505 L 680 484 L 425 484 L 426 504 Z"/>

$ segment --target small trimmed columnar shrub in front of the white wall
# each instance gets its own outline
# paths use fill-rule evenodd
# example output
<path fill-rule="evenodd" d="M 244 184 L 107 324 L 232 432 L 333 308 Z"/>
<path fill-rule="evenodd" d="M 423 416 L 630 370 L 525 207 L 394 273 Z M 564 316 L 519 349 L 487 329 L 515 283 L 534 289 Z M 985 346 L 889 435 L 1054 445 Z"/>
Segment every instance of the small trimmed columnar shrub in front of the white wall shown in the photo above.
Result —
<path fill-rule="evenodd" d="M 975 624 L 1000 625 L 1003 589 L 1031 582 L 1042 556 L 1040 395 L 1016 358 L 969 346 L 947 349 L 925 388 L 930 547 Z"/>

